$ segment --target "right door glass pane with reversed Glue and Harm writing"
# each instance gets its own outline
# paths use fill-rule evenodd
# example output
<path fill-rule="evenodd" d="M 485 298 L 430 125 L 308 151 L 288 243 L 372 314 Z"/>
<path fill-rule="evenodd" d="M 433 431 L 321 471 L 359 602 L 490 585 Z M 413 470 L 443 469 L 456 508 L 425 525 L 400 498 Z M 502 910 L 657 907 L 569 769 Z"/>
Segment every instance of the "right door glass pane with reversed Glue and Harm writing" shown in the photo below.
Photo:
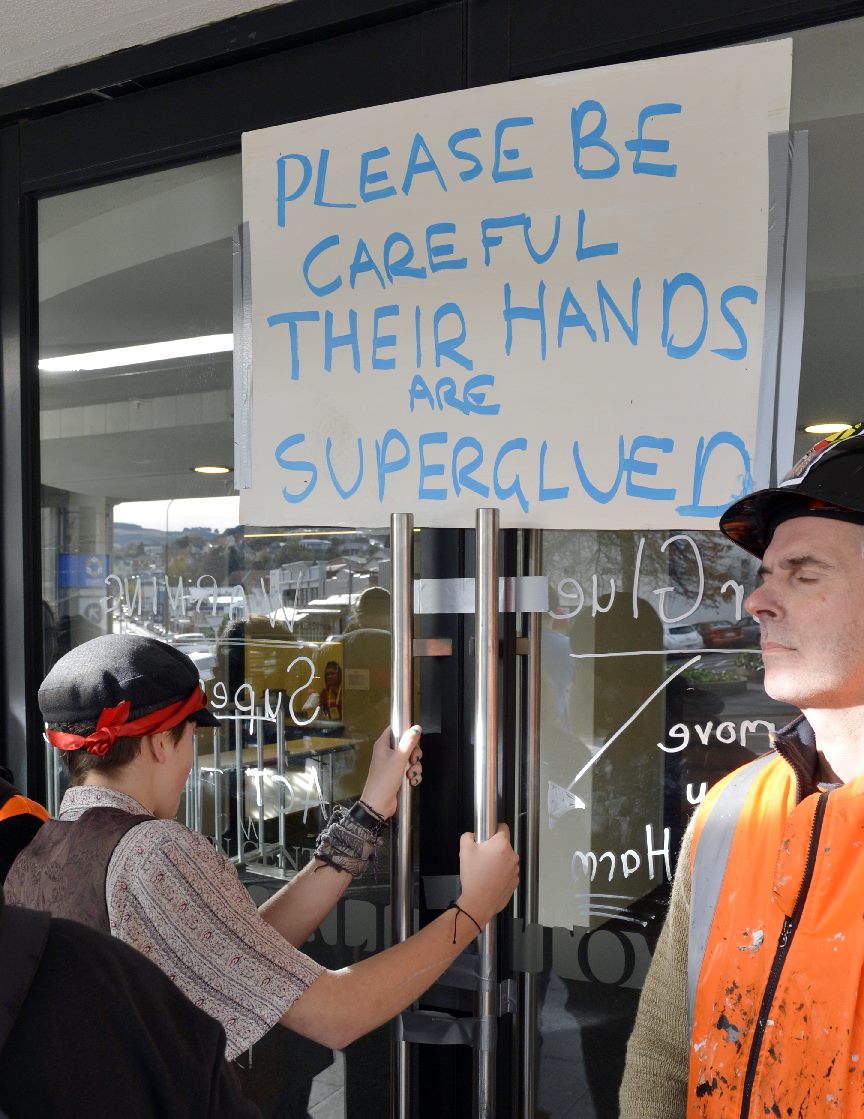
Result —
<path fill-rule="evenodd" d="M 538 1115 L 618 1113 L 693 806 L 792 715 L 741 612 L 755 568 L 720 533 L 543 534 Z"/>

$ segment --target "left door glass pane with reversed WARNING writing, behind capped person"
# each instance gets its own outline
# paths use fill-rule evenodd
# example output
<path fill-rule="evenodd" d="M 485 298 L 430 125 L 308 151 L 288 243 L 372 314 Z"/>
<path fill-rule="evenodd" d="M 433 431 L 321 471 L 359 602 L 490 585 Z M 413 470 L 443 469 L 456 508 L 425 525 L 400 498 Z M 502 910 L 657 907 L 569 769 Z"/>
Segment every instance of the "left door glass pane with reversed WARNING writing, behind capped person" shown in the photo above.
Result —
<path fill-rule="evenodd" d="M 309 861 L 329 807 L 357 798 L 389 722 L 389 540 L 238 524 L 240 220 L 234 156 L 39 204 L 43 640 L 46 669 L 102 633 L 196 661 L 220 725 L 197 732 L 178 818 L 260 903 Z M 340 968 L 386 946 L 388 862 L 348 890 L 310 956 Z M 278 1026 L 243 1079 L 265 1115 L 384 1113 L 387 1045 L 382 1029 L 334 1054 Z"/>

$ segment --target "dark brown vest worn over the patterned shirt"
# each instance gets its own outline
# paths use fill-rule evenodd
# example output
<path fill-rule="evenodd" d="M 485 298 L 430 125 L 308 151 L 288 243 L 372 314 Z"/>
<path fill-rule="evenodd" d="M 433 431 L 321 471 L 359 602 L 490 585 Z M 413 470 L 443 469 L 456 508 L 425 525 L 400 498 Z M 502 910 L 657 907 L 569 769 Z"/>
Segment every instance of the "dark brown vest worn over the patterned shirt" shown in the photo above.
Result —
<path fill-rule="evenodd" d="M 151 819 L 120 808 L 88 808 L 74 821 L 47 820 L 12 863 L 3 886 L 7 902 L 110 933 L 111 856 L 126 831 Z"/>

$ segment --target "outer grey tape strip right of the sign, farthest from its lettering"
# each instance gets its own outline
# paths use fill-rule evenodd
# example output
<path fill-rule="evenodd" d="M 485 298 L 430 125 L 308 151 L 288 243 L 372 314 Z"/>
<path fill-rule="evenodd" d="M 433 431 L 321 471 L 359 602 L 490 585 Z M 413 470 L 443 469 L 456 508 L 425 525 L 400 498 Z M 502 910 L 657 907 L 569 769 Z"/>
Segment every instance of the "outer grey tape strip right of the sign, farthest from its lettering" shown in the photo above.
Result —
<path fill-rule="evenodd" d="M 786 264 L 783 267 L 782 325 L 780 328 L 780 374 L 777 391 L 778 478 L 795 462 L 795 432 L 798 421 L 798 385 L 801 376 L 804 303 L 807 284 L 807 208 L 810 191 L 809 133 L 790 137 L 791 173 L 787 207 Z"/>

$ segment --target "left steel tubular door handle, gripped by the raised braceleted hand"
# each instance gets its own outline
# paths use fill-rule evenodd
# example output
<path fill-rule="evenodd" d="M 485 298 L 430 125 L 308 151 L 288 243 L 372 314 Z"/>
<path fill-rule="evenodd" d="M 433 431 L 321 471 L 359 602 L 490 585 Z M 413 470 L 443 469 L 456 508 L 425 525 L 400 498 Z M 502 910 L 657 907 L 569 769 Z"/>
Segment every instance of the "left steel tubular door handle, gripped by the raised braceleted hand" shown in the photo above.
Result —
<path fill-rule="evenodd" d="M 398 742 L 413 724 L 414 697 L 414 517 L 394 513 L 389 523 L 393 573 L 391 595 L 391 731 Z M 407 777 L 402 782 L 398 808 L 393 819 L 393 942 L 407 940 L 412 932 L 411 881 L 412 802 Z M 391 1040 L 391 1116 L 411 1116 L 411 1050 L 397 1037 Z"/>

